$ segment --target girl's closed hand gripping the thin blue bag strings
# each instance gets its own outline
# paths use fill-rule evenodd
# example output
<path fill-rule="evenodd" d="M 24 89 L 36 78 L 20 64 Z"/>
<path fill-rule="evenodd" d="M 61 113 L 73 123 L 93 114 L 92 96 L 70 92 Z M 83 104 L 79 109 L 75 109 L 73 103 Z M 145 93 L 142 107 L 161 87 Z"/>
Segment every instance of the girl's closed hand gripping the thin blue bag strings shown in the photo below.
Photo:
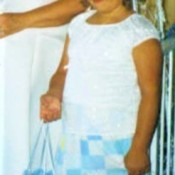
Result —
<path fill-rule="evenodd" d="M 44 94 L 40 99 L 40 117 L 44 122 L 55 121 L 60 118 L 61 103 L 60 100 L 49 94 Z"/>

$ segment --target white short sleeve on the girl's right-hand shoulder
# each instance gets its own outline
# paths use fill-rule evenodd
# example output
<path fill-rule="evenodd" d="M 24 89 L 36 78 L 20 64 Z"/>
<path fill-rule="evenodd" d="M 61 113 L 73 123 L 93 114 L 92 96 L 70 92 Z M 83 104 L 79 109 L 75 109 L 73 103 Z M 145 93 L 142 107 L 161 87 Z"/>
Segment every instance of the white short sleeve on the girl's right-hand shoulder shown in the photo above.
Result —
<path fill-rule="evenodd" d="M 133 21 L 133 47 L 149 39 L 160 40 L 158 30 L 145 17 L 138 15 Z"/>

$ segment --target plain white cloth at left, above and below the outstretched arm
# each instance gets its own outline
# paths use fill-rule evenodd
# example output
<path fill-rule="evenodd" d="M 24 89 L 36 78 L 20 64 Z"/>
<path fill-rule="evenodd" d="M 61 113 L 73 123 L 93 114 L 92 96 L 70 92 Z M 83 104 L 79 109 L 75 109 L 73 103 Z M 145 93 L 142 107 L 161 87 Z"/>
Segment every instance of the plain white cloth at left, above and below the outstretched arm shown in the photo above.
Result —
<path fill-rule="evenodd" d="M 49 2 L 3 0 L 0 9 L 21 12 Z M 28 29 L 0 40 L 1 175 L 21 175 L 27 166 L 38 130 L 39 97 L 59 63 L 65 33 L 66 26 Z"/>

